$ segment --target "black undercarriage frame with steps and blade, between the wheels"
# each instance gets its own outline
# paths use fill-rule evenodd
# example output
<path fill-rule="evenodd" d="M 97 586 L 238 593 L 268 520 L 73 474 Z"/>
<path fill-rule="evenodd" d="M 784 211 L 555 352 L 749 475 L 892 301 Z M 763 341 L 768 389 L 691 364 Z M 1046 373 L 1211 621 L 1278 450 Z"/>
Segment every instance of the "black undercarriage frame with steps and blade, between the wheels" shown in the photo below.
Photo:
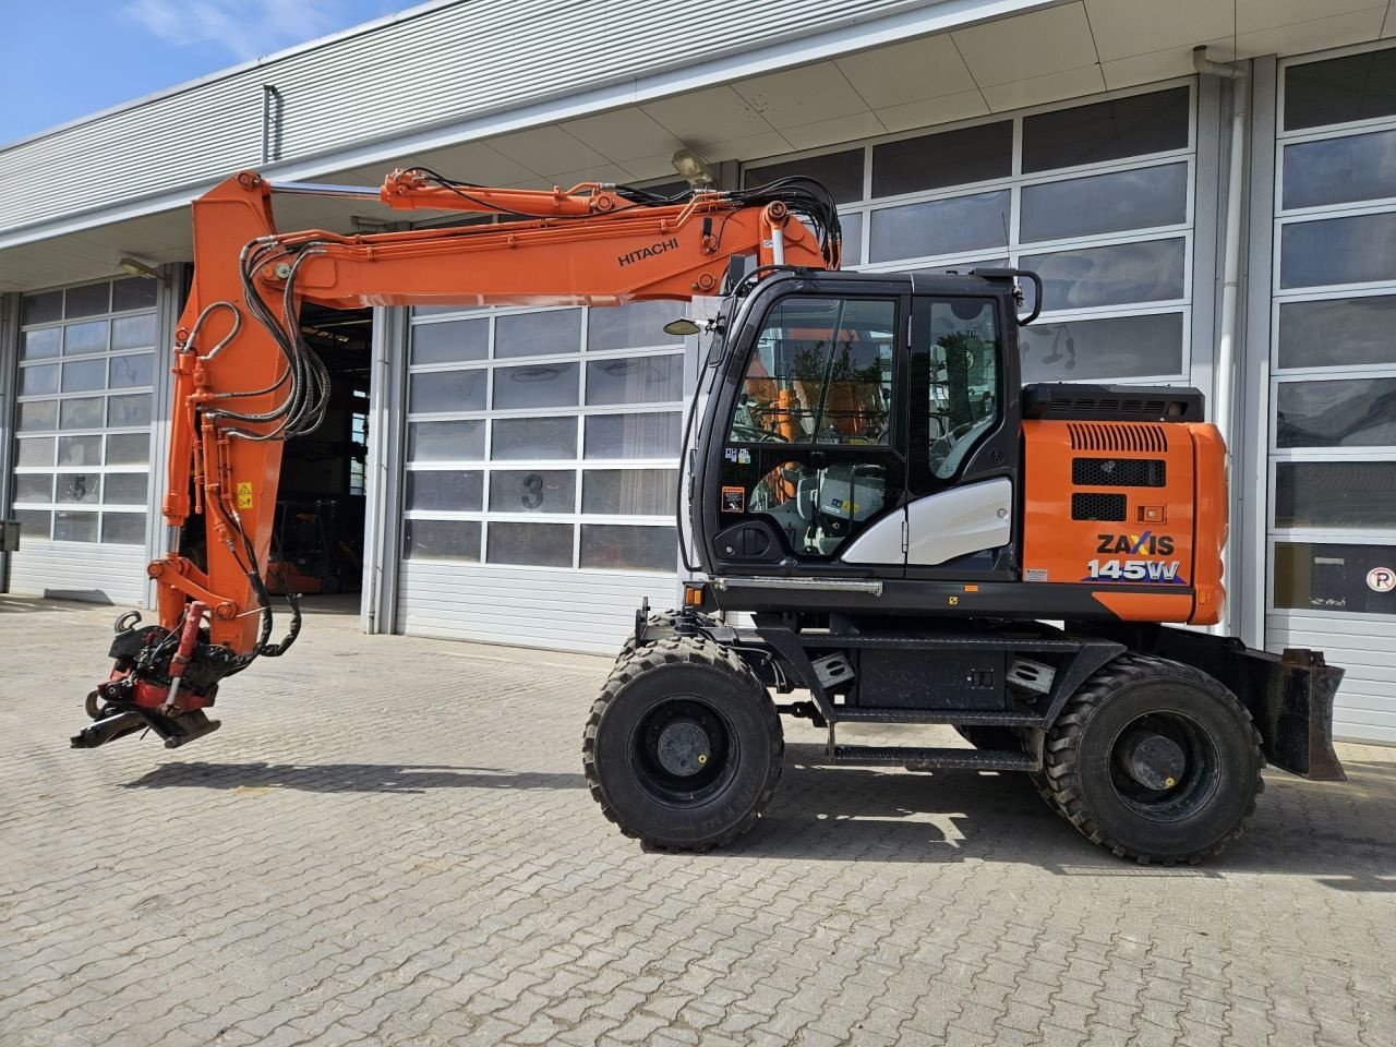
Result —
<path fill-rule="evenodd" d="M 1041 745 L 1067 701 L 1111 659 L 1154 655 L 1198 669 L 1230 688 L 1251 713 L 1266 759 L 1312 780 L 1343 780 L 1333 751 L 1333 697 L 1343 670 L 1307 649 L 1273 655 L 1241 641 L 1156 624 L 938 620 L 850 614 L 757 614 L 754 628 L 719 624 L 685 609 L 670 627 L 637 614 L 637 646 L 664 635 L 702 635 L 740 656 L 780 695 L 789 716 L 828 729 L 835 764 L 917 764 L 919 750 L 840 745 L 840 723 L 944 723 L 1008 729 L 1019 752 L 966 750 L 955 765 L 1036 771 Z M 1037 673 L 1036 670 L 1047 670 Z M 1027 685 L 1023 685 L 1026 678 Z M 930 751 L 926 751 L 927 754 Z M 945 750 L 937 764 L 946 765 Z"/>

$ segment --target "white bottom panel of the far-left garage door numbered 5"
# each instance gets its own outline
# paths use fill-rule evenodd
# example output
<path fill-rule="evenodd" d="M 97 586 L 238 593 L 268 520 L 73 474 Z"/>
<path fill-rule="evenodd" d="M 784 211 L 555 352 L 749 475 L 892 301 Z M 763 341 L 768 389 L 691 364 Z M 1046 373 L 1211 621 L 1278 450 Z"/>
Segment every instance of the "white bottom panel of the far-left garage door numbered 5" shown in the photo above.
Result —
<path fill-rule="evenodd" d="M 10 592 L 145 606 L 145 550 L 78 542 L 27 542 L 10 561 Z"/>

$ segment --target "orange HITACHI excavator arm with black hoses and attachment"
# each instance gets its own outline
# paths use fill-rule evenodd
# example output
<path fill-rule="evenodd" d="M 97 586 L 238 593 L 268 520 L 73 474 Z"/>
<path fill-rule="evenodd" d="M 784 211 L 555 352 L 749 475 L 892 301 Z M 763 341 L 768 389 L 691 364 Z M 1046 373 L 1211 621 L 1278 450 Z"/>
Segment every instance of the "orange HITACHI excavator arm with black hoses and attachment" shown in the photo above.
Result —
<path fill-rule="evenodd" d="M 243 172 L 194 201 L 194 282 L 172 360 L 170 550 L 148 567 L 159 624 L 117 623 L 112 676 L 88 697 L 94 723 L 74 747 L 144 727 L 168 747 L 191 741 L 218 726 L 202 709 L 222 678 L 295 641 L 295 603 L 289 632 L 271 641 L 262 568 L 282 444 L 314 431 L 328 402 L 328 373 L 300 335 L 303 303 L 618 306 L 715 295 L 737 257 L 839 265 L 833 204 L 807 180 L 677 201 L 599 183 L 483 188 L 423 169 L 394 172 L 377 191 L 282 188 L 510 219 L 362 236 L 279 233 L 276 191 Z M 204 564 L 179 549 L 191 517 L 202 519 Z"/>

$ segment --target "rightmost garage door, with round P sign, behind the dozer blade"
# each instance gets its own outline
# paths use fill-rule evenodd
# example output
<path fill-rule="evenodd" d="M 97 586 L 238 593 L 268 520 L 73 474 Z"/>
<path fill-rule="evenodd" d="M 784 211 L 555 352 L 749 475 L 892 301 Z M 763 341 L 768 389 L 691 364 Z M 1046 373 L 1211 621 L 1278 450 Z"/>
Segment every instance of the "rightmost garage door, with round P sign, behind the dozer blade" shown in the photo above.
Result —
<path fill-rule="evenodd" d="M 1347 676 L 1396 743 L 1396 50 L 1280 71 L 1266 646 Z"/>

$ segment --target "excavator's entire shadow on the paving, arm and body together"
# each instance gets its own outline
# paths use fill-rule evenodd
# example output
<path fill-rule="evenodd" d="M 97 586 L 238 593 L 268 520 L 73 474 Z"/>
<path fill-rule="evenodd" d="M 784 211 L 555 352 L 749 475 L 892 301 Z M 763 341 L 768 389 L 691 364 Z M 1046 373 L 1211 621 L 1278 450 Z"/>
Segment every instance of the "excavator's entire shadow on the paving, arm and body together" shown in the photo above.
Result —
<path fill-rule="evenodd" d="M 765 817 L 719 859 L 1029 864 L 1057 875 L 1289 874 L 1336 891 L 1396 893 L 1396 765 L 1350 761 L 1349 782 L 1272 772 L 1247 832 L 1201 866 L 1145 867 L 1111 857 L 1048 808 L 1019 773 L 884 772 L 817 766 L 793 744 Z M 437 789 L 585 789 L 581 773 L 399 764 L 166 764 L 127 789 L 426 793 Z M 606 825 L 595 812 L 597 832 Z"/>

